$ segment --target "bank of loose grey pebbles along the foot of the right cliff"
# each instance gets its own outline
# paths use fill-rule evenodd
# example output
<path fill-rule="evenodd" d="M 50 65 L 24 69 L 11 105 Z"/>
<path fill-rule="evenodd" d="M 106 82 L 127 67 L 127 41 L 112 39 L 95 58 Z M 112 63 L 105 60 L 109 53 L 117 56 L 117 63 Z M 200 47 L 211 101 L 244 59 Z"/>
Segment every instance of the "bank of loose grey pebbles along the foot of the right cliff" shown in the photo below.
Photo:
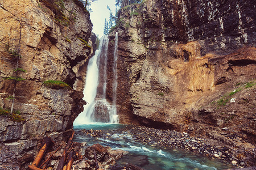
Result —
<path fill-rule="evenodd" d="M 144 145 L 160 147 L 164 149 L 181 148 L 186 151 L 203 154 L 212 159 L 222 160 L 227 164 L 236 167 L 246 167 L 246 163 L 239 159 L 237 150 L 233 150 L 230 146 L 225 146 L 221 142 L 213 139 L 203 139 L 190 137 L 187 133 L 178 133 L 174 130 L 160 130 L 154 128 L 146 128 L 144 126 L 126 126 L 122 129 L 109 130 L 79 130 L 77 133 L 94 137 L 96 139 L 125 140 L 130 138 L 134 142 L 143 143 Z"/>

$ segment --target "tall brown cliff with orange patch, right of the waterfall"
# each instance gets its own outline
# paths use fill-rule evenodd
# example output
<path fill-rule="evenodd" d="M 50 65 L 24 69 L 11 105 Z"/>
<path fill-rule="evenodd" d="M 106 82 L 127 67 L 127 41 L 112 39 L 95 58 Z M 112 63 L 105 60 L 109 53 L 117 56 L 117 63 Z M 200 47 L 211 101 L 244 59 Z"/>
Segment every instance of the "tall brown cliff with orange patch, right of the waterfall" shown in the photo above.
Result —
<path fill-rule="evenodd" d="M 187 131 L 237 148 L 244 142 L 241 150 L 251 151 L 241 159 L 254 164 L 253 8 L 250 1 L 192 0 L 122 8 L 109 44 L 113 56 L 117 31 L 120 121 Z"/>

